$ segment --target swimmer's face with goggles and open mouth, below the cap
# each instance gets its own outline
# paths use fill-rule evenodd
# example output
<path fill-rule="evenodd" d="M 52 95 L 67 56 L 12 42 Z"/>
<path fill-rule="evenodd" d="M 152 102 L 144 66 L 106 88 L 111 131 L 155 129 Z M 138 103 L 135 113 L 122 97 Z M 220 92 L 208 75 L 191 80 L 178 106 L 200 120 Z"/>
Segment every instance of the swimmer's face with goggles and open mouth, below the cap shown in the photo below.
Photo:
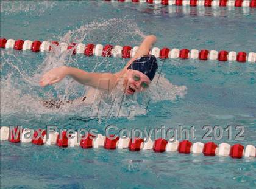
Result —
<path fill-rule="evenodd" d="M 145 74 L 132 69 L 127 69 L 126 71 L 126 89 L 125 93 L 127 95 L 133 95 L 135 92 L 145 91 L 151 80 Z"/>

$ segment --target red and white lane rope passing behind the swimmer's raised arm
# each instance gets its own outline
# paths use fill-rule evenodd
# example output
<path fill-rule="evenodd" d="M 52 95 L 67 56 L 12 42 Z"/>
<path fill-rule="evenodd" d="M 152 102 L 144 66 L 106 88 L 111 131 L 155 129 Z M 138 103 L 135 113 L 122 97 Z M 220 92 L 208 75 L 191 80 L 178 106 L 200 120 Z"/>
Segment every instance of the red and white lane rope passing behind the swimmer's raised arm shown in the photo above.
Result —
<path fill-rule="evenodd" d="M 86 56 L 102 56 L 102 57 L 119 57 L 119 58 L 132 58 L 138 50 L 138 46 L 112 46 L 111 44 L 83 44 L 83 43 L 60 43 L 58 41 L 31 41 L 31 40 L 13 40 L 0 38 L 0 47 L 3 49 L 15 49 L 15 50 L 31 50 L 32 52 L 53 52 L 52 46 L 59 46 L 61 52 L 66 50 L 72 50 L 73 55 L 84 54 Z M 155 55 L 157 58 L 180 58 L 180 59 L 199 59 L 199 60 L 218 60 L 218 61 L 238 61 L 245 63 L 256 63 L 255 52 L 234 52 L 227 50 L 197 50 L 197 49 L 170 49 L 163 47 L 153 47 L 149 54 Z"/>

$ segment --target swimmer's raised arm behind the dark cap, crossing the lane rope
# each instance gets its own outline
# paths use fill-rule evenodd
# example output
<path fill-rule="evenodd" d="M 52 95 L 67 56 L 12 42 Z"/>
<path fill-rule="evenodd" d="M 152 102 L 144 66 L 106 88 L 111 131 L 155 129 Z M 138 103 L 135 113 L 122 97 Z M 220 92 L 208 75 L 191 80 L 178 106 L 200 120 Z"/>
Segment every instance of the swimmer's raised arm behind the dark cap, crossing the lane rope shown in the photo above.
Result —
<path fill-rule="evenodd" d="M 155 35 L 147 35 L 143 42 L 140 44 L 140 47 L 138 48 L 137 52 L 135 53 L 134 57 L 132 57 L 126 66 L 124 67 L 124 70 L 127 69 L 127 67 L 137 58 L 142 57 L 144 55 L 148 55 L 149 50 L 151 49 L 152 45 L 157 41 L 157 37 Z"/>

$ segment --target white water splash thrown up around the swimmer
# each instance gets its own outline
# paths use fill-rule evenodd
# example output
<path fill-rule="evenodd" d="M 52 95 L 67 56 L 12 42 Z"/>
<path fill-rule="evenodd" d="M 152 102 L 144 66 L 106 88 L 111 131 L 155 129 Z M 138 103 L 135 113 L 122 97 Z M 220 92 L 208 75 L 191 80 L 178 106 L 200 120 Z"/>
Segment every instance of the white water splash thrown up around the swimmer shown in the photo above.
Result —
<path fill-rule="evenodd" d="M 70 30 L 63 36 L 57 36 L 60 42 L 71 43 L 92 43 L 109 42 L 111 44 L 140 44 L 143 40 L 143 32 L 129 19 L 109 19 L 93 21 L 89 24 L 82 24 L 75 30 Z M 38 119 L 51 120 L 54 115 L 60 116 L 82 116 L 82 117 L 127 117 L 132 119 L 135 115 L 147 113 L 147 100 L 153 101 L 174 101 L 177 97 L 184 97 L 187 88 L 175 86 L 169 83 L 166 78 L 155 77 L 151 87 L 145 94 L 136 94 L 133 97 L 123 95 L 122 82 L 116 86 L 111 94 L 84 87 L 74 82 L 71 78 L 65 78 L 58 84 L 47 88 L 40 88 L 38 81 L 41 75 L 48 70 L 63 65 L 81 67 L 87 71 L 104 72 L 112 70 L 117 72 L 126 64 L 113 64 L 115 58 L 87 58 L 93 61 L 92 67 L 80 63 L 81 57 L 72 56 L 72 49 L 65 53 L 60 52 L 60 47 L 53 46 L 54 53 L 46 54 L 42 63 L 26 70 L 26 65 L 20 60 L 21 55 L 14 55 L 8 51 L 1 52 L 1 114 L 9 117 L 15 114 L 20 121 L 28 122 L 30 115 Z M 85 57 L 86 58 L 86 57 Z M 119 60 L 118 60 L 119 61 Z M 7 67 L 7 68 L 6 68 Z M 112 69 L 113 67 L 113 69 Z M 32 73 L 31 73 L 32 72 Z M 84 92 L 93 90 L 93 97 L 87 98 L 86 103 L 81 100 L 74 100 L 81 97 Z M 149 95 L 150 94 L 150 95 Z M 59 98 L 60 100 L 72 99 L 73 103 L 65 103 L 60 108 L 45 108 L 43 99 Z"/>

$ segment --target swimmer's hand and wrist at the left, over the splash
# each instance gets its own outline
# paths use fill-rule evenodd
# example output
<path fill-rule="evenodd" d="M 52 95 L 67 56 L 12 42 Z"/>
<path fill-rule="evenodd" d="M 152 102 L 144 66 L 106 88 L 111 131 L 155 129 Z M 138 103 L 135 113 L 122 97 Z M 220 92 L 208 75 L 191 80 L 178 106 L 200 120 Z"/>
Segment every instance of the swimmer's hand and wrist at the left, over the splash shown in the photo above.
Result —
<path fill-rule="evenodd" d="M 40 86 L 48 86 L 61 81 L 66 75 L 68 75 L 68 67 L 62 66 L 49 70 L 41 77 L 39 81 Z"/>

